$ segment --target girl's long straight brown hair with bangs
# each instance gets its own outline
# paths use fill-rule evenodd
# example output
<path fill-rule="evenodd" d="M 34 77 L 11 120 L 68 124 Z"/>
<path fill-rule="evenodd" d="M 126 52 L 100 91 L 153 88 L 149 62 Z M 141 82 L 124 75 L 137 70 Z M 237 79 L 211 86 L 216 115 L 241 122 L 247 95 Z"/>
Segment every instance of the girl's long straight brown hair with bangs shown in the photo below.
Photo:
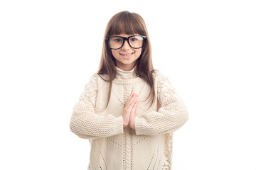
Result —
<path fill-rule="evenodd" d="M 149 34 L 146 30 L 146 24 L 142 18 L 137 13 L 130 13 L 129 11 L 122 11 L 115 14 L 110 21 L 107 23 L 105 30 L 103 47 L 102 47 L 102 57 L 100 60 L 100 67 L 97 72 L 99 75 L 107 74 L 107 79 L 103 78 L 105 81 L 110 82 L 110 89 L 107 99 L 107 105 L 110 101 L 110 92 L 112 88 L 112 81 L 117 75 L 117 70 L 115 68 L 116 62 L 112 56 L 110 47 L 108 47 L 105 38 L 112 35 L 127 34 L 127 35 L 146 35 L 146 40 L 142 47 L 142 54 L 137 59 L 137 66 L 134 70 L 137 77 L 141 77 L 146 81 L 151 87 L 150 100 L 151 104 L 154 102 L 155 91 L 154 91 L 154 79 L 152 77 L 152 72 L 154 72 L 154 67 L 151 58 L 151 44 L 149 41 Z"/>

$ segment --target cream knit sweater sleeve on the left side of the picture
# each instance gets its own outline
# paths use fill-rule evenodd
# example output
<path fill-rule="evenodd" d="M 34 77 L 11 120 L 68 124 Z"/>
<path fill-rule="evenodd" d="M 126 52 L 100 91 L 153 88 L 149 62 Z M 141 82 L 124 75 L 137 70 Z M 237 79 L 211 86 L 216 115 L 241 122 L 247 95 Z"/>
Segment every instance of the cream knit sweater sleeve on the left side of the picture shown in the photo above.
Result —
<path fill-rule="evenodd" d="M 109 137 L 123 133 L 123 118 L 109 114 L 107 116 L 95 113 L 98 82 L 100 76 L 95 74 L 80 95 L 80 100 L 73 108 L 70 120 L 70 130 L 85 139 Z"/>

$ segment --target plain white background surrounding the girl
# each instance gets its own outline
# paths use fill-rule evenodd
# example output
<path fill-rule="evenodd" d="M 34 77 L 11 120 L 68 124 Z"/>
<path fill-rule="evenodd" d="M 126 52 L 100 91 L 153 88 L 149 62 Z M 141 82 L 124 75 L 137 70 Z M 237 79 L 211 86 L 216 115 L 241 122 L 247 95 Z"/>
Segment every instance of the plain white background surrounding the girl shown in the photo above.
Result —
<path fill-rule="evenodd" d="M 255 1 L 0 1 L 0 169 L 86 169 L 69 130 L 119 11 L 146 22 L 155 69 L 190 119 L 174 133 L 174 170 L 256 169 Z"/>

